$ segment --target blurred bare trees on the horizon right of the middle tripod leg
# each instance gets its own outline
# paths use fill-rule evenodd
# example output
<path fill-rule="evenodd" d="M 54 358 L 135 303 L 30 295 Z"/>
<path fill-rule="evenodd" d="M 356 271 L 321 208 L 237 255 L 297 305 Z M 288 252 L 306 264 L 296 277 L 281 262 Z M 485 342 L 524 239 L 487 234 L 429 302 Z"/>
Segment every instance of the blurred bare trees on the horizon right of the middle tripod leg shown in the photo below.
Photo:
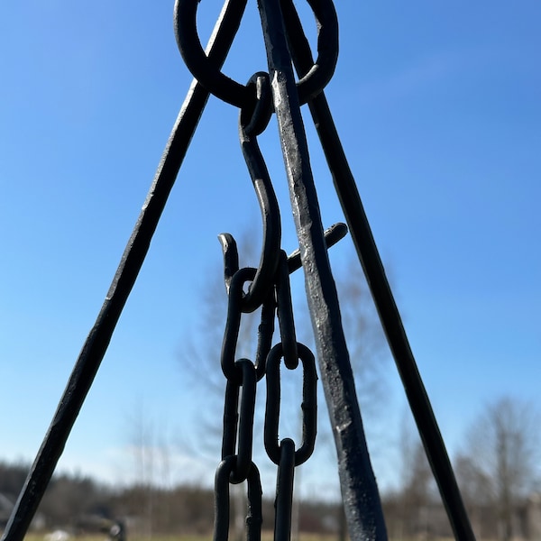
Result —
<path fill-rule="evenodd" d="M 527 401 L 492 400 L 466 429 L 454 473 L 478 539 L 541 538 L 539 416 Z M 394 536 L 451 535 L 420 442 L 402 449 L 398 491 L 386 495 Z"/>

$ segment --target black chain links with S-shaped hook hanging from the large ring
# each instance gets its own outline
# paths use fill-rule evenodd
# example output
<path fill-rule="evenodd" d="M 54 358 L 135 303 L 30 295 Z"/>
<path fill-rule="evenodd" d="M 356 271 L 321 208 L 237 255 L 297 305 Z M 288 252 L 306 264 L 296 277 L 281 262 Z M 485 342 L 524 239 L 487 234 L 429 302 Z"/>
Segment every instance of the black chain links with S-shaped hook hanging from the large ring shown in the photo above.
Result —
<path fill-rule="evenodd" d="M 293 317 L 289 272 L 298 269 L 299 257 L 290 258 L 280 249 L 280 209 L 271 179 L 261 155 L 257 135 L 271 118 L 271 88 L 268 74 L 256 73 L 246 88 L 252 99 L 241 107 L 239 134 L 244 160 L 261 209 L 263 242 L 257 269 L 239 269 L 234 237 L 219 236 L 224 253 L 225 289 L 228 296 L 227 320 L 222 344 L 221 366 L 226 379 L 222 461 L 215 475 L 215 541 L 228 538 L 229 487 L 247 481 L 247 537 L 261 537 L 261 481 L 252 462 L 253 417 L 258 381 L 266 380 L 264 445 L 271 461 L 278 465 L 276 489 L 275 539 L 289 539 L 295 467 L 307 461 L 316 442 L 316 361 L 306 345 L 297 341 Z M 334 243 L 345 234 L 345 226 L 327 233 Z M 249 287 L 246 288 L 246 285 Z M 245 290 L 246 289 L 246 290 Z M 255 360 L 236 360 L 243 314 L 261 308 Z M 280 342 L 271 347 L 275 320 L 280 327 Z M 302 444 L 296 450 L 293 440 L 279 441 L 280 362 L 289 370 L 303 371 Z"/>

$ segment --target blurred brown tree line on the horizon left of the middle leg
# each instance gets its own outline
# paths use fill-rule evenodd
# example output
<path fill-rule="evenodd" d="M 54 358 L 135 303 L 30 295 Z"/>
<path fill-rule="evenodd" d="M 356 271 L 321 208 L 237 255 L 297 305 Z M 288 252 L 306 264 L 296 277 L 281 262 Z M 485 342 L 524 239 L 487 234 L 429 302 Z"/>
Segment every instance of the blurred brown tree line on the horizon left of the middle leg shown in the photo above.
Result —
<path fill-rule="evenodd" d="M 0 495 L 14 503 L 23 488 L 30 464 L 0 462 Z M 0 506 L 0 531 L 8 513 Z M 263 521 L 273 524 L 273 501 L 263 500 Z M 339 509 L 333 502 L 303 503 L 298 527 L 305 532 L 332 533 L 339 527 Z M 63 529 L 73 535 L 106 532 L 122 522 L 131 535 L 201 534 L 212 532 L 214 491 L 179 484 L 170 489 L 133 483 L 114 488 L 88 476 L 60 473 L 53 476 L 32 527 L 42 531 Z M 232 521 L 233 524 L 233 521 Z M 233 528 L 232 528 L 233 529 Z"/>

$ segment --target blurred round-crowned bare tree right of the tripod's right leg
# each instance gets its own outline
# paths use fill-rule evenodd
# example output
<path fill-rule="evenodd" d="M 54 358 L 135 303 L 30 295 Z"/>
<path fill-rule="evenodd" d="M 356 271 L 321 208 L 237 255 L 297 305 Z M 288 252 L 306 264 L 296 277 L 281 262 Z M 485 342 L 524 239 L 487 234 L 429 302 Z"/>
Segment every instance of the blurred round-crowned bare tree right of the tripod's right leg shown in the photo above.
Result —
<path fill-rule="evenodd" d="M 470 480 L 473 471 L 486 487 L 501 541 L 514 535 L 518 508 L 539 476 L 538 419 L 527 402 L 504 397 L 491 402 L 468 432 Z M 470 488 L 479 494 L 480 486 Z"/>

